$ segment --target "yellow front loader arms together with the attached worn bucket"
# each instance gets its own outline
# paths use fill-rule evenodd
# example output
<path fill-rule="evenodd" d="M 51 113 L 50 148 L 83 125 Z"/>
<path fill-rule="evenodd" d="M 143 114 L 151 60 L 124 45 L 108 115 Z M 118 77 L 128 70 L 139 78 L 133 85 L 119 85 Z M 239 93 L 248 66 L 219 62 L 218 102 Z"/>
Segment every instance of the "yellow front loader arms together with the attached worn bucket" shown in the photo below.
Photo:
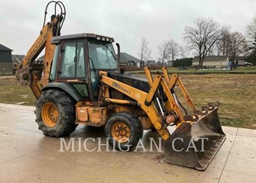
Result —
<path fill-rule="evenodd" d="M 150 69 L 144 68 L 150 85 L 149 92 L 119 82 L 108 77 L 107 72 L 100 71 L 100 81 L 106 85 L 105 101 L 115 104 L 134 104 L 135 102 L 147 114 L 157 132 L 165 140 L 164 152 L 167 162 L 204 170 L 225 141 L 225 133 L 222 131 L 217 114 L 219 104 L 208 104 L 202 107 L 202 110 L 196 110 L 179 75 L 173 74 L 169 77 L 167 69 L 162 70 L 163 75 L 157 73 L 153 79 Z M 180 111 L 180 102 L 174 92 L 175 85 L 180 87 L 193 114 L 183 115 Z M 115 88 L 134 101 L 109 98 L 108 88 Z M 164 92 L 161 95 L 167 99 L 159 96 L 157 90 L 159 92 L 160 89 Z M 167 129 L 169 125 L 177 126 L 173 133 Z M 191 144 L 194 149 L 190 149 Z"/>

